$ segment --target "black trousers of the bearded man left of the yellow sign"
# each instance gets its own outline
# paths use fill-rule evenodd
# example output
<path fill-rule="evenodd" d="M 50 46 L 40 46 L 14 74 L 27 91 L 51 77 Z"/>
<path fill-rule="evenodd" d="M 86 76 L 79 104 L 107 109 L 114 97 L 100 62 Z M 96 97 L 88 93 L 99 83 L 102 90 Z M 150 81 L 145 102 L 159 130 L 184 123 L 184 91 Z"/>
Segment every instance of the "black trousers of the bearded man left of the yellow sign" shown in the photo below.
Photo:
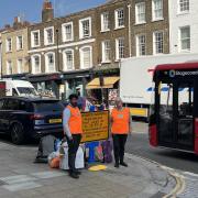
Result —
<path fill-rule="evenodd" d="M 70 141 L 67 138 L 68 143 L 68 167 L 70 172 L 75 172 L 75 161 L 76 161 L 76 153 L 78 151 L 79 144 L 81 141 L 81 134 L 73 134 L 73 140 Z"/>

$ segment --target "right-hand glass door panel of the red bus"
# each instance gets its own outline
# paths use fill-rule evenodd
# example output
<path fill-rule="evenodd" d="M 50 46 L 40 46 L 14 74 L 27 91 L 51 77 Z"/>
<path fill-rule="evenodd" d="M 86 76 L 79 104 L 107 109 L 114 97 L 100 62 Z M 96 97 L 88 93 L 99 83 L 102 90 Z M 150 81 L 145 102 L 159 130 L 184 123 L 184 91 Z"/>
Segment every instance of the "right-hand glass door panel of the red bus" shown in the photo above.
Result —
<path fill-rule="evenodd" d="M 194 82 L 178 80 L 174 100 L 175 143 L 177 147 L 194 150 Z"/>

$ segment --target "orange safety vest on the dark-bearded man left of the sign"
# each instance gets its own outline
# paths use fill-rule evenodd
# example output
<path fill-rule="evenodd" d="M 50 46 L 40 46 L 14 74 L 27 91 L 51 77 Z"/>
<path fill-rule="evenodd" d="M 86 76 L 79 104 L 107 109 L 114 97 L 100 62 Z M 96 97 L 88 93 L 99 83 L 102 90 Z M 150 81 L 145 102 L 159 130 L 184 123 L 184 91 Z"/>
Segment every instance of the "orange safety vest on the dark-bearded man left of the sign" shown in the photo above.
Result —
<path fill-rule="evenodd" d="M 72 106 L 67 106 L 67 108 L 70 110 L 70 118 L 68 121 L 68 127 L 72 134 L 81 134 L 82 128 L 81 128 L 81 113 L 78 107 L 74 108 Z"/>

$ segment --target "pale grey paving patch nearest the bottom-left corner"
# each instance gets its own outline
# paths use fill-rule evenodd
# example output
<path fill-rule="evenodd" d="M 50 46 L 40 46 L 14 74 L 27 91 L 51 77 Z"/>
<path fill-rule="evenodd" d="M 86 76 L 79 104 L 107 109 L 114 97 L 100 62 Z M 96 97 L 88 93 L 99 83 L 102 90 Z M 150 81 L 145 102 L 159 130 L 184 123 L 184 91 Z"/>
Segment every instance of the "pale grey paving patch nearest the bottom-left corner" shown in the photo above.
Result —
<path fill-rule="evenodd" d="M 13 185 L 4 185 L 2 187 L 9 191 L 19 191 L 19 190 L 38 188 L 42 187 L 42 185 L 34 182 L 29 182 L 29 183 L 13 184 Z"/>

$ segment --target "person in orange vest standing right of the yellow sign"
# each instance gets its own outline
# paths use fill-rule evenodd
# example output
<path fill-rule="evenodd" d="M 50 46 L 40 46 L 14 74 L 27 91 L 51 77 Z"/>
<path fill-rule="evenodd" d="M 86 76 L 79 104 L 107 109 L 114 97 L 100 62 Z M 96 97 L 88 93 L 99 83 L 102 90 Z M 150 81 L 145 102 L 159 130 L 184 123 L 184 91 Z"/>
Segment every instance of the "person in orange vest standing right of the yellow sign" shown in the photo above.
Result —
<path fill-rule="evenodd" d="M 116 107 L 111 111 L 111 133 L 113 139 L 114 167 L 128 167 L 124 162 L 124 147 L 128 134 L 131 133 L 131 114 L 129 108 L 123 108 L 122 100 L 116 99 Z"/>

